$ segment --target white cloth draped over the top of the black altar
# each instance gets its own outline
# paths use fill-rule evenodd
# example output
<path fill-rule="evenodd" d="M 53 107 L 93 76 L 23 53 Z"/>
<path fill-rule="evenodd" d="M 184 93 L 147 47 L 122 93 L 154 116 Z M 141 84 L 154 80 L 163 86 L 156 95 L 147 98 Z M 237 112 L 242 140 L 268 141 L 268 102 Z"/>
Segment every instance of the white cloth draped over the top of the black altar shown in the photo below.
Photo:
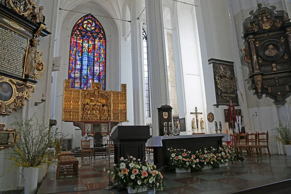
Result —
<path fill-rule="evenodd" d="M 163 139 L 183 139 L 183 138 L 198 138 L 198 137 L 217 137 L 223 136 L 222 141 L 227 142 L 230 137 L 228 133 L 210 133 L 210 134 L 202 134 L 202 135 L 177 135 L 177 136 L 157 136 L 152 137 L 147 140 L 146 147 L 162 147 L 162 140 Z M 228 137 L 229 138 L 228 138 Z"/>

